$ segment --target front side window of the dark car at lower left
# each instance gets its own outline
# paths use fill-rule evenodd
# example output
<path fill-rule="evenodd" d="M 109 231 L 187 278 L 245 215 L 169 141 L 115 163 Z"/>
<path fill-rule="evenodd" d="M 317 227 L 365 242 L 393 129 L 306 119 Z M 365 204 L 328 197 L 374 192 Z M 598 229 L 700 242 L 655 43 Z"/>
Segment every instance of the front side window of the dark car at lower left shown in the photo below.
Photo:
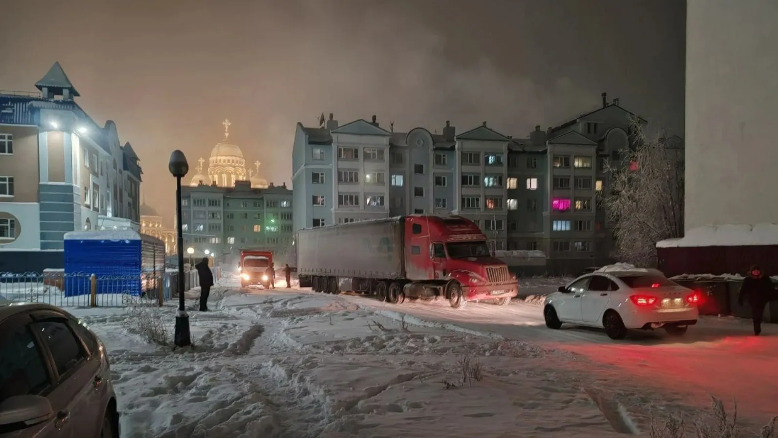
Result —
<path fill-rule="evenodd" d="M 0 325 L 0 402 L 17 395 L 38 395 L 49 386 L 44 356 L 30 328 Z"/>

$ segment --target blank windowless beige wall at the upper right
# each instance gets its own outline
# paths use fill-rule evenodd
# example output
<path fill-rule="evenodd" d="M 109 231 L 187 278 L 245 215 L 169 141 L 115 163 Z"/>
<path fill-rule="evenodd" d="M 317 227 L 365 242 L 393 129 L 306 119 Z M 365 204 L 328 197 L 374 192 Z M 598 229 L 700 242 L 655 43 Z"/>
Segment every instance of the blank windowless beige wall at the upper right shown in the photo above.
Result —
<path fill-rule="evenodd" d="M 688 0 L 685 228 L 778 221 L 778 2 Z"/>

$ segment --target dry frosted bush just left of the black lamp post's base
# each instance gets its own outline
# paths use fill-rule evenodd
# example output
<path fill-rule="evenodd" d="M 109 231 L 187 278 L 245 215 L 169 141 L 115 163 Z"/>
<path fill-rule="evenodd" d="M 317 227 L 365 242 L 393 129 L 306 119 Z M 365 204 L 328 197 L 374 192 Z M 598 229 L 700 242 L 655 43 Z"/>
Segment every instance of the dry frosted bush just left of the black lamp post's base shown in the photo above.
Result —
<path fill-rule="evenodd" d="M 122 295 L 125 306 L 124 327 L 128 332 L 138 334 L 151 344 L 170 345 L 170 316 L 163 313 L 156 302 L 132 295 Z"/>

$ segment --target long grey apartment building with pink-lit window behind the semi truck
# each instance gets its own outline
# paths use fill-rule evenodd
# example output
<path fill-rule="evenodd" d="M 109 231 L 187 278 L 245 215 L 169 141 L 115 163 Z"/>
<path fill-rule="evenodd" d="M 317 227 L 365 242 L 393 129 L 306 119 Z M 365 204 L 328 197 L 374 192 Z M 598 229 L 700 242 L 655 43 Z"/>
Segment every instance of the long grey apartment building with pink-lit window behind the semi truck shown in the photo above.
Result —
<path fill-rule="evenodd" d="M 598 201 L 606 161 L 645 121 L 602 94 L 597 108 L 513 138 L 486 122 L 461 134 L 393 132 L 376 117 L 296 126 L 294 229 L 402 214 L 460 214 L 495 250 L 542 251 L 549 272 L 608 263 L 612 231 Z"/>

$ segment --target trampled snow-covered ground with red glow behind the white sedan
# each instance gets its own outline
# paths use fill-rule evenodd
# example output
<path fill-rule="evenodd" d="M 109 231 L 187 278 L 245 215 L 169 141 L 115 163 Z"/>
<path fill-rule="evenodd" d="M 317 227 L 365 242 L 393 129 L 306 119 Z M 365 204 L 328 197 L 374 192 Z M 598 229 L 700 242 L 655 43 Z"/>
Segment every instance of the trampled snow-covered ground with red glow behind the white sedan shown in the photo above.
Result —
<path fill-rule="evenodd" d="M 706 319 L 680 341 L 657 332 L 615 342 L 548 330 L 541 307 L 521 300 L 396 306 L 236 283 L 213 289 L 212 312 L 190 313 L 195 347 L 179 351 L 129 333 L 128 310 L 68 309 L 107 344 L 124 436 L 606 438 L 644 434 L 651 412 L 690 413 L 710 394 L 737 397 L 748 422 L 778 413 L 769 324 L 753 337 L 750 321 Z M 172 325 L 173 306 L 147 310 Z M 476 363 L 482 380 L 463 383 Z"/>

